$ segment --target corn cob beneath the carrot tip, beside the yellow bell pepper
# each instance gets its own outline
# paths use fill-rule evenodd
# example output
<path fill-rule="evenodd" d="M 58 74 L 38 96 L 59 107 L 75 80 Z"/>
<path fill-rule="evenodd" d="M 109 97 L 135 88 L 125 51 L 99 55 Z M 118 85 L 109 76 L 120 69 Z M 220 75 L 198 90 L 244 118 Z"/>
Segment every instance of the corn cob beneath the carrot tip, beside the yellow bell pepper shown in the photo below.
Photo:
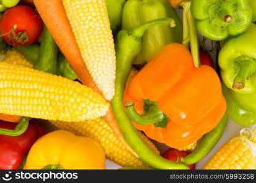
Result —
<path fill-rule="evenodd" d="M 75 123 L 67 123 L 64 121 L 50 122 L 60 129 L 65 129 L 73 134 L 93 138 L 100 143 L 104 149 L 106 157 L 122 167 L 148 167 L 148 165 L 135 157 L 126 146 L 121 143 L 104 118 Z M 145 135 L 141 134 L 141 137 L 151 149 L 159 154 L 156 146 L 154 146 Z"/>

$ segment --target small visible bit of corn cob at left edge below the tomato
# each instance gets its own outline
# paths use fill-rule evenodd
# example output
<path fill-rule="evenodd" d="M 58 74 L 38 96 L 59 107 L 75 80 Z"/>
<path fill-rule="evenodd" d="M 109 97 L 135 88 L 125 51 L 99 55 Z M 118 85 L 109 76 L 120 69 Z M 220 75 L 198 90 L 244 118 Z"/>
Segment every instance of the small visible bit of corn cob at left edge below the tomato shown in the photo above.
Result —
<path fill-rule="evenodd" d="M 21 55 L 15 48 L 7 49 L 6 56 L 4 57 L 4 60 L 2 60 L 2 62 L 26 66 L 29 68 L 33 67 L 33 64 L 26 60 L 26 58 Z"/>

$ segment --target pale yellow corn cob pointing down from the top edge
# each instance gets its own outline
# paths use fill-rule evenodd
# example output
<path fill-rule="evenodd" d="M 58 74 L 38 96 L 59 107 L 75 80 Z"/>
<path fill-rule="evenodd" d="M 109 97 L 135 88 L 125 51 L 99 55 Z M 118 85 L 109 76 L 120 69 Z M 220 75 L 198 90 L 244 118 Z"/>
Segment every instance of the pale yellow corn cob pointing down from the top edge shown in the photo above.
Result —
<path fill-rule="evenodd" d="M 105 0 L 62 0 L 81 56 L 106 99 L 115 93 L 116 56 Z"/>

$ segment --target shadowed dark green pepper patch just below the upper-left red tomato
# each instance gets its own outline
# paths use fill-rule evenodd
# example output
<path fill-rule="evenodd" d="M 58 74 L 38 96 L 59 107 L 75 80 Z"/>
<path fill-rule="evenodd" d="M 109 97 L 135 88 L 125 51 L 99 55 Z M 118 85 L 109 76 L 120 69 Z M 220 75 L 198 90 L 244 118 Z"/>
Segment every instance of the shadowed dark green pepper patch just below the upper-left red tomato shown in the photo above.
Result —
<path fill-rule="evenodd" d="M 20 52 L 29 62 L 34 65 L 37 63 L 40 45 L 37 43 L 28 46 L 18 46 L 15 47 L 18 52 Z"/>

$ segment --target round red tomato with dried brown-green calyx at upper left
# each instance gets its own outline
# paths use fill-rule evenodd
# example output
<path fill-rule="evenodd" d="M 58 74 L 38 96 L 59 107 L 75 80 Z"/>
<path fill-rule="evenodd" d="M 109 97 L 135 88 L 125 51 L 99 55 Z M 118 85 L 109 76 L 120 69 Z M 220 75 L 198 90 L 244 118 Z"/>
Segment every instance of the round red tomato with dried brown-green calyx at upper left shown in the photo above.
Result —
<path fill-rule="evenodd" d="M 4 40 L 13 46 L 25 46 L 34 43 L 43 29 L 39 14 L 29 6 L 17 5 L 2 15 L 0 33 Z"/>

